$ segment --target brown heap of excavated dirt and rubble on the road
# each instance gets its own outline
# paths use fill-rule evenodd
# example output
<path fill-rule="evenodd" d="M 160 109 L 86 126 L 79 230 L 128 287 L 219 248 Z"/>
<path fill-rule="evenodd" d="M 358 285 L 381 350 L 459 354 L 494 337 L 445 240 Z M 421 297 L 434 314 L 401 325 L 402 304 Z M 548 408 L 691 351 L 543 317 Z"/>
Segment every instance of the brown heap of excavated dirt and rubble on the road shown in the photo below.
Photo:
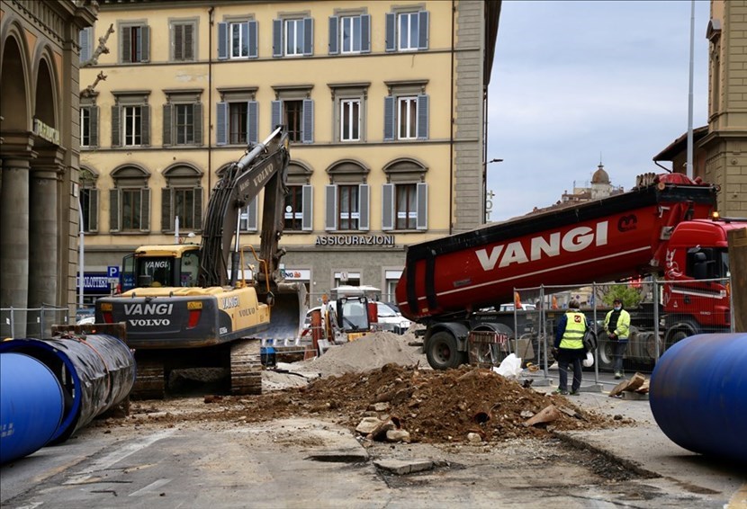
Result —
<path fill-rule="evenodd" d="M 527 420 L 554 405 L 552 423 L 527 426 Z M 489 370 L 419 370 L 390 363 L 382 368 L 347 372 L 257 397 L 205 397 L 190 412 L 164 412 L 156 401 L 139 402 L 126 424 L 196 421 L 240 425 L 290 416 L 324 417 L 354 429 L 366 416 L 395 417 L 412 442 L 466 442 L 477 433 L 484 442 L 543 438 L 557 430 L 599 429 L 619 425 L 587 412 L 562 396 L 524 388 Z"/>

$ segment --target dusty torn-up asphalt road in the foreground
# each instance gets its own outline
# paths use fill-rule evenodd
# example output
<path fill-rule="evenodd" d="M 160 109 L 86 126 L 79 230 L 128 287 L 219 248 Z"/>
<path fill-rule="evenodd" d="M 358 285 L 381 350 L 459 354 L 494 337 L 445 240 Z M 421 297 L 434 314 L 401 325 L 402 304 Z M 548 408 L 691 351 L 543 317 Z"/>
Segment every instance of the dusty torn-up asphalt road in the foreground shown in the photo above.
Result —
<path fill-rule="evenodd" d="M 588 378 L 576 404 L 637 425 L 545 442 L 439 446 L 370 444 L 306 418 L 91 426 L 0 468 L 0 505 L 747 507 L 743 468 L 681 449 L 653 422 L 648 401 L 608 397 L 615 380 L 600 392 Z M 554 388 L 543 380 L 537 390 Z"/>

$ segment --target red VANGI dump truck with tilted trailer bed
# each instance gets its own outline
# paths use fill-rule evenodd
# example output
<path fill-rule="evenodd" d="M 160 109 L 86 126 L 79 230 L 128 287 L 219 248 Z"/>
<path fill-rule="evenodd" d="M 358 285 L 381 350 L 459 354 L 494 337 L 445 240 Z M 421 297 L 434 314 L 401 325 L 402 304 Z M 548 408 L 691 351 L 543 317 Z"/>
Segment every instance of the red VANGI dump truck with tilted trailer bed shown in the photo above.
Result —
<path fill-rule="evenodd" d="M 497 310 L 516 288 L 658 274 L 672 282 L 664 285 L 663 348 L 728 331 L 726 286 L 693 282 L 728 277 L 727 231 L 747 228 L 745 219 L 716 219 L 716 192 L 683 174 L 649 174 L 629 192 L 409 246 L 396 288 L 401 313 L 427 326 L 424 347 L 435 369 L 466 362 L 471 333 L 515 337 L 513 313 Z M 636 333 L 652 343 L 651 330 Z M 653 361 L 654 349 L 631 350 L 628 358 Z"/>

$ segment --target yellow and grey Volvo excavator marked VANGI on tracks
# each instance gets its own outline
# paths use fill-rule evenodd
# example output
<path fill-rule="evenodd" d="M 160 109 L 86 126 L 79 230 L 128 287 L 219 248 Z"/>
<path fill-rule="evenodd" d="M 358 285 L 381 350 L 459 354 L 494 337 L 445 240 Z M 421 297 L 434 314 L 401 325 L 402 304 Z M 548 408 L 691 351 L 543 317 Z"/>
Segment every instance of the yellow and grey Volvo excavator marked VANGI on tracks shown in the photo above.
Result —
<path fill-rule="evenodd" d="M 228 379 L 231 394 L 259 394 L 260 341 L 300 336 L 306 290 L 284 281 L 278 246 L 289 160 L 287 132 L 275 129 L 216 183 L 201 245 L 141 246 L 124 257 L 123 292 L 98 299 L 95 315 L 96 323 L 126 325 L 137 362 L 132 397 L 165 397 L 182 371 Z M 263 189 L 257 253 L 240 246 L 238 225 Z"/>

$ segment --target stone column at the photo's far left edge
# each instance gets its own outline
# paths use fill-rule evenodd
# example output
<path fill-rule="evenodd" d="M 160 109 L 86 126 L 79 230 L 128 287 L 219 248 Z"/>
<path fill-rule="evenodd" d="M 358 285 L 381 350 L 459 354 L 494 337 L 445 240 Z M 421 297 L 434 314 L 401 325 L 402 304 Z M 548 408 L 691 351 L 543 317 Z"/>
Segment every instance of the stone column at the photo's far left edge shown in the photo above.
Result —
<path fill-rule="evenodd" d="M 7 138 L 5 138 L 7 140 Z M 7 147 L 7 148 L 6 148 Z M 29 161 L 31 151 L 3 146 L 3 184 L 0 188 L 0 308 L 14 308 L 13 330 L 6 325 L 10 313 L 3 311 L 3 337 L 26 335 L 29 296 Z"/>

